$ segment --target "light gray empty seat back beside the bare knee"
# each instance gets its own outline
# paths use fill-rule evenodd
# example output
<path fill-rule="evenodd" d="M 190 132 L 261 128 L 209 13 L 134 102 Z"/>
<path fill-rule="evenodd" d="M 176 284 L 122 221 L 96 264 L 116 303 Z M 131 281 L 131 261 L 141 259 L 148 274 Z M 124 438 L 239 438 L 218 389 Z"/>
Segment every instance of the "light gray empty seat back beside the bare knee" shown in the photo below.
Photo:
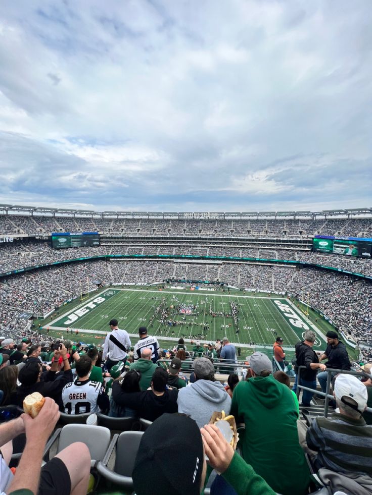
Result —
<path fill-rule="evenodd" d="M 111 433 L 104 426 L 66 424 L 59 435 L 57 454 L 74 442 L 82 442 L 90 452 L 91 466 L 104 459 L 110 445 Z"/>

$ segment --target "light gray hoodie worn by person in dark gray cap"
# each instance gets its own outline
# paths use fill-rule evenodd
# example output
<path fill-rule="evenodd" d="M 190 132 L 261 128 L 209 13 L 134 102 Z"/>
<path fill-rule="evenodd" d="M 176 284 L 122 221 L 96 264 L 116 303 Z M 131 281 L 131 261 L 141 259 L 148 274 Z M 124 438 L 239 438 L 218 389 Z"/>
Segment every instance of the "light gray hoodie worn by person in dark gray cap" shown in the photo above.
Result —
<path fill-rule="evenodd" d="M 177 404 L 178 412 L 189 414 L 201 428 L 214 411 L 230 414 L 231 398 L 219 381 L 198 380 L 179 390 Z"/>

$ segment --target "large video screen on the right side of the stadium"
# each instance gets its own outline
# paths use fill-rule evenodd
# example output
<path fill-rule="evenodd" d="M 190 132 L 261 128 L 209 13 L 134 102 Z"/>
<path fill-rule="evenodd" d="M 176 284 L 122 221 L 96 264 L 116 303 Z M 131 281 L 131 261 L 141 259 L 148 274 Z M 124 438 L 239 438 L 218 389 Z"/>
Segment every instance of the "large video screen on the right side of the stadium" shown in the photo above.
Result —
<path fill-rule="evenodd" d="M 312 250 L 318 253 L 333 253 L 346 256 L 357 256 L 360 258 L 370 258 L 372 254 L 372 239 L 316 236 L 312 241 Z"/>

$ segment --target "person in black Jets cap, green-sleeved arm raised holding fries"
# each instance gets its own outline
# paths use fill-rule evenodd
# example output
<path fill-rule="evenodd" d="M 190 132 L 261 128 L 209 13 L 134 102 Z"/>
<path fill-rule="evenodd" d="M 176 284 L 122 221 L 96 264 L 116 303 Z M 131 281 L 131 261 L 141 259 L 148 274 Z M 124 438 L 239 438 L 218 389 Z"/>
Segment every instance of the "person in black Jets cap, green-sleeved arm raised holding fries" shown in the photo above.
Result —
<path fill-rule="evenodd" d="M 222 473 L 239 495 L 274 495 L 215 425 L 199 430 L 195 421 L 181 414 L 164 414 L 143 434 L 132 474 L 136 494 L 148 495 L 149 479 L 160 478 L 160 483 L 151 486 L 152 495 L 198 495 L 206 478 L 205 454 L 211 467 Z"/>

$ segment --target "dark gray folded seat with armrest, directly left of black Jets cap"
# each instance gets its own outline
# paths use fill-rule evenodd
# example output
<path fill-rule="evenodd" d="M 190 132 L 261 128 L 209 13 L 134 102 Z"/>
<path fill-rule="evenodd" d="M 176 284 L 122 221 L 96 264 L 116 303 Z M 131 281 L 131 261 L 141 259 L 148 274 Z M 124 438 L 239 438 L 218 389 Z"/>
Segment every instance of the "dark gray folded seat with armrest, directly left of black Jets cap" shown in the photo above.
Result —
<path fill-rule="evenodd" d="M 143 431 L 123 431 L 116 442 L 115 466 L 111 471 L 107 464 L 114 450 L 115 444 L 111 442 L 105 459 L 96 464 L 96 469 L 106 480 L 119 485 L 125 490 L 133 490 L 132 472 L 135 456 L 140 446 Z M 111 449 L 111 452 L 110 452 Z"/>

